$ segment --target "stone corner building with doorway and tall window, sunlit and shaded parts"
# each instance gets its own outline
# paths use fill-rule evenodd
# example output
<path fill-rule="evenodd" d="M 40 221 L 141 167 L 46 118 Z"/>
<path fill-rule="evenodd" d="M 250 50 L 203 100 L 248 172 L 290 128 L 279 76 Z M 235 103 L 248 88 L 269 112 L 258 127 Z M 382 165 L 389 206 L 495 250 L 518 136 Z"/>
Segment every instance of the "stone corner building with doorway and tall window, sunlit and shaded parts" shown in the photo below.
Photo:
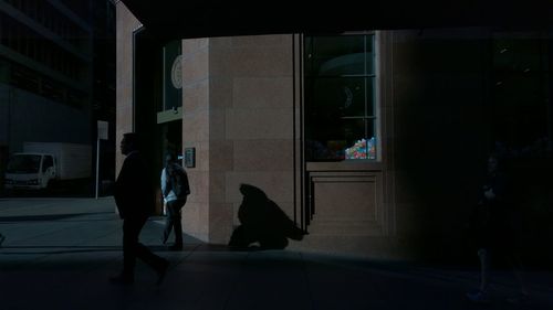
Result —
<path fill-rule="evenodd" d="M 153 182 L 167 149 L 194 156 L 187 234 L 227 244 L 250 184 L 309 232 L 291 247 L 471 261 L 466 224 L 503 150 L 528 258 L 553 258 L 551 26 L 201 38 L 191 22 L 182 39 L 178 19 L 156 19 L 174 9 L 140 21 L 124 2 L 116 139 L 140 135 Z"/>

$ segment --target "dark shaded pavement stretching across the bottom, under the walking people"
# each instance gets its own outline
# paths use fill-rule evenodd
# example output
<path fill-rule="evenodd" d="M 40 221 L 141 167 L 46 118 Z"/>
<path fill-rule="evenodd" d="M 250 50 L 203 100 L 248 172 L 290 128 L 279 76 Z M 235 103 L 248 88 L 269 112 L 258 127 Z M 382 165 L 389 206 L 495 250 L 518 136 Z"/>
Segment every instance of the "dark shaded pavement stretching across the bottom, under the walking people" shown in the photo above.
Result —
<path fill-rule="evenodd" d="M 152 217 L 140 240 L 171 263 L 160 287 L 137 264 L 135 284 L 113 286 L 121 268 L 121 225 L 111 197 L 2 199 L 0 310 L 111 309 L 553 309 L 553 277 L 531 272 L 532 301 L 498 275 L 497 300 L 472 304 L 465 292 L 478 270 L 371 261 L 294 250 L 230 252 L 187 236 L 185 250 L 160 245 L 163 217 Z"/>

